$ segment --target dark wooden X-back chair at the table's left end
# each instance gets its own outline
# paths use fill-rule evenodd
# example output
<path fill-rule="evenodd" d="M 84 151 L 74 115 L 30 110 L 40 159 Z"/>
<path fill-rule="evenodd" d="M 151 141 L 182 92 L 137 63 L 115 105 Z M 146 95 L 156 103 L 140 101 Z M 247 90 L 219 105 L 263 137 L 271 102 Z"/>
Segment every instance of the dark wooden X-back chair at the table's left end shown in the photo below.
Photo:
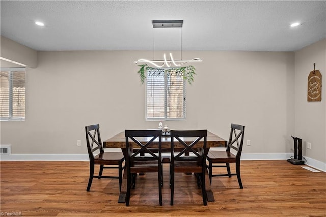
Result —
<path fill-rule="evenodd" d="M 90 159 L 90 177 L 88 180 L 87 191 L 90 191 L 93 178 L 119 179 L 119 191 L 122 183 L 122 170 L 124 166 L 124 156 L 122 151 L 104 152 L 99 124 L 85 127 L 87 151 Z M 98 153 L 98 154 L 97 154 Z M 95 165 L 100 165 L 98 176 L 94 176 Z M 110 166 L 105 166 L 110 165 Z M 115 166 L 114 166 L 115 165 Z M 118 176 L 103 176 L 103 169 L 118 169 Z"/>

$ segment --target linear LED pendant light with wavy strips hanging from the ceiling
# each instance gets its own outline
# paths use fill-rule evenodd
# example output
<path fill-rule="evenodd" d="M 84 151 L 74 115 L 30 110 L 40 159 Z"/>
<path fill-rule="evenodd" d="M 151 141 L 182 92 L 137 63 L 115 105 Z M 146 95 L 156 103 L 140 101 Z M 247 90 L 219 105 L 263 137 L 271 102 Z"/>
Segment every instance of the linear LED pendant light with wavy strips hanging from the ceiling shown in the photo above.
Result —
<path fill-rule="evenodd" d="M 162 67 L 178 67 L 182 66 L 186 63 L 189 62 L 201 62 L 202 60 L 200 58 L 194 58 L 194 59 L 188 59 L 188 60 L 183 60 L 182 59 L 182 25 L 183 25 L 183 20 L 153 20 L 153 28 L 180 28 L 180 38 L 181 38 L 181 59 L 180 60 L 174 60 L 172 53 L 170 53 L 170 59 L 168 60 L 166 57 L 166 54 L 164 53 L 163 55 L 163 60 L 147 60 L 147 59 L 139 59 L 133 61 L 135 64 L 138 63 L 146 63 L 146 64 L 151 64 L 157 68 L 162 68 Z M 153 48 L 153 53 L 155 55 L 155 29 L 154 29 L 154 48 Z"/>

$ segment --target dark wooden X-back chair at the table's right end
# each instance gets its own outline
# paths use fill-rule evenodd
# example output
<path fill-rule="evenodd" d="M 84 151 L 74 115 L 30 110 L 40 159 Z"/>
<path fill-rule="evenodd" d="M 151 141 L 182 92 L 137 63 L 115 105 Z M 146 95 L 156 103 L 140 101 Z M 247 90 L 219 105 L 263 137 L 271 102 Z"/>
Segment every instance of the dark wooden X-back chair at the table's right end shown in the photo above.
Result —
<path fill-rule="evenodd" d="M 240 158 L 243 146 L 244 126 L 238 124 L 231 124 L 231 132 L 226 151 L 211 150 L 208 152 L 208 175 L 209 181 L 212 183 L 214 176 L 228 176 L 229 178 L 236 175 L 238 178 L 239 186 L 242 189 L 243 185 L 240 176 Z M 231 152 L 233 150 L 233 153 Z M 235 153 L 236 152 L 236 153 Z M 221 163 L 223 165 L 221 165 Z M 234 163 L 236 173 L 231 173 L 230 164 Z M 217 165 L 215 165 L 217 164 Z M 212 174 L 213 167 L 226 167 L 227 174 Z"/>

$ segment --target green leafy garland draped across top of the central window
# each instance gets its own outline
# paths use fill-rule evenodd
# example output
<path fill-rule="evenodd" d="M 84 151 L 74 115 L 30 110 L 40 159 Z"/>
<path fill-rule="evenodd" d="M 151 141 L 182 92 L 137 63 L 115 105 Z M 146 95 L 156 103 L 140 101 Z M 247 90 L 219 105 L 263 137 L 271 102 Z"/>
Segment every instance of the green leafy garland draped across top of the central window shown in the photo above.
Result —
<path fill-rule="evenodd" d="M 137 73 L 139 73 L 139 76 L 141 78 L 142 84 L 145 81 L 147 72 L 151 76 L 161 76 L 165 72 L 168 73 L 168 76 L 177 76 L 177 77 L 183 77 L 183 79 L 187 80 L 189 84 L 192 84 L 194 81 L 194 75 L 195 73 L 195 67 L 194 66 L 182 66 L 182 67 L 169 67 L 169 68 L 153 68 L 148 66 L 147 64 L 139 65 L 140 69 Z"/>

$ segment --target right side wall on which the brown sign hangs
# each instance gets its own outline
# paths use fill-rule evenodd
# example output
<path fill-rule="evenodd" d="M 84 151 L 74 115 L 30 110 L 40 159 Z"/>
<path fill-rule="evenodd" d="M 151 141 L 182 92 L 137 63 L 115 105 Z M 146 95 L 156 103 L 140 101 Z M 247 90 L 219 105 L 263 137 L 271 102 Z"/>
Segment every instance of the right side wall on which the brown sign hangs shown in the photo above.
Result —
<path fill-rule="evenodd" d="M 321 102 L 307 101 L 313 64 L 321 73 Z M 295 134 L 303 138 L 304 155 L 326 162 L 326 39 L 295 52 Z M 311 149 L 306 149 L 307 142 Z M 326 170 L 326 167 L 325 167 Z"/>

